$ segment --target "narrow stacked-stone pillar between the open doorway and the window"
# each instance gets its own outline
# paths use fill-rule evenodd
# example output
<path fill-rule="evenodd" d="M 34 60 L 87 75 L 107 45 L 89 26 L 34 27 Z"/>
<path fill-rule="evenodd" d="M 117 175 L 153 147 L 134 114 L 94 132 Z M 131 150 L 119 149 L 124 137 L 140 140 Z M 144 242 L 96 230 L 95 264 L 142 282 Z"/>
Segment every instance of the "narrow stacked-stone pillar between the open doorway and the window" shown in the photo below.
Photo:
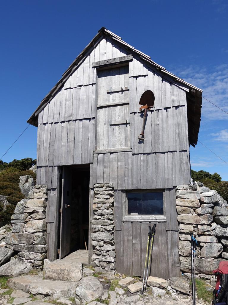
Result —
<path fill-rule="evenodd" d="M 114 272 L 116 270 L 116 247 L 114 240 L 112 184 L 95 184 L 92 220 L 92 266 L 96 271 Z"/>

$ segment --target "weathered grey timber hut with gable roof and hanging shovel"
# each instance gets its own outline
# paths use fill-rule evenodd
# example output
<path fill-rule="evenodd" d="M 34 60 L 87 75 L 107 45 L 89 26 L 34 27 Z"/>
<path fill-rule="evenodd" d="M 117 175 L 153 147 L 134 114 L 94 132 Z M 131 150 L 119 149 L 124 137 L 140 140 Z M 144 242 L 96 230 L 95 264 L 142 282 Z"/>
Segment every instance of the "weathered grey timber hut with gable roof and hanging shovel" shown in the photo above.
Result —
<path fill-rule="evenodd" d="M 91 262 L 94 185 L 109 183 L 117 271 L 142 275 L 148 225 L 156 223 L 153 275 L 179 275 L 175 188 L 190 181 L 201 95 L 121 37 L 98 31 L 28 120 L 38 127 L 37 183 L 49 189 L 50 260 L 86 244 Z M 144 141 L 140 99 L 151 103 Z"/>

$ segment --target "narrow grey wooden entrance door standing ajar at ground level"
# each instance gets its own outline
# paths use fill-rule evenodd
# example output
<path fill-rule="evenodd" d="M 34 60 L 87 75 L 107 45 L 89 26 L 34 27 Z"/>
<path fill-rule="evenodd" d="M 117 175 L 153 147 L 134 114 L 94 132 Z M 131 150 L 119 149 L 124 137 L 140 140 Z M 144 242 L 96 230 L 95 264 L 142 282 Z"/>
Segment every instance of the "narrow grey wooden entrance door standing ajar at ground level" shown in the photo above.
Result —
<path fill-rule="evenodd" d="M 60 252 L 63 258 L 71 251 L 71 170 L 64 166 L 62 176 L 62 199 L 60 220 Z"/>

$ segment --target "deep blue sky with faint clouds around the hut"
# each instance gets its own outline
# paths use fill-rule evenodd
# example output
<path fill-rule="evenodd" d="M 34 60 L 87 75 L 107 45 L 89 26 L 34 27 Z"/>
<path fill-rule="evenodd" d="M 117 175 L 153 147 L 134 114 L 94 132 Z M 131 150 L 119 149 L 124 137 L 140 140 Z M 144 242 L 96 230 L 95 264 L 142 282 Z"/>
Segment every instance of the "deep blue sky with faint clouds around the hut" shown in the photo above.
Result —
<path fill-rule="evenodd" d="M 228 112 L 227 13 L 226 0 L 1 1 L 0 155 L 102 26 Z M 226 113 L 203 100 L 199 140 L 228 163 L 227 123 Z M 190 156 L 192 169 L 228 181 L 228 165 L 200 143 Z M 3 161 L 25 157 L 36 158 L 34 126 Z"/>

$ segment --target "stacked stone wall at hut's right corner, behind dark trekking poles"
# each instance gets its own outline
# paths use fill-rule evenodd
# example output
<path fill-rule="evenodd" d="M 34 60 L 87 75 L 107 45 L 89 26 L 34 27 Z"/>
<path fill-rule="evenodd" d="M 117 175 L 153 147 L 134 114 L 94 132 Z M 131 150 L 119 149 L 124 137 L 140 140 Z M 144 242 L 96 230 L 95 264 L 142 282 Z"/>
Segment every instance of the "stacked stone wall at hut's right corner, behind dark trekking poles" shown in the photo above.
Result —
<path fill-rule="evenodd" d="M 227 202 L 201 182 L 176 188 L 179 256 L 182 272 L 191 273 L 191 236 L 198 242 L 196 274 L 212 274 L 228 259 Z"/>

